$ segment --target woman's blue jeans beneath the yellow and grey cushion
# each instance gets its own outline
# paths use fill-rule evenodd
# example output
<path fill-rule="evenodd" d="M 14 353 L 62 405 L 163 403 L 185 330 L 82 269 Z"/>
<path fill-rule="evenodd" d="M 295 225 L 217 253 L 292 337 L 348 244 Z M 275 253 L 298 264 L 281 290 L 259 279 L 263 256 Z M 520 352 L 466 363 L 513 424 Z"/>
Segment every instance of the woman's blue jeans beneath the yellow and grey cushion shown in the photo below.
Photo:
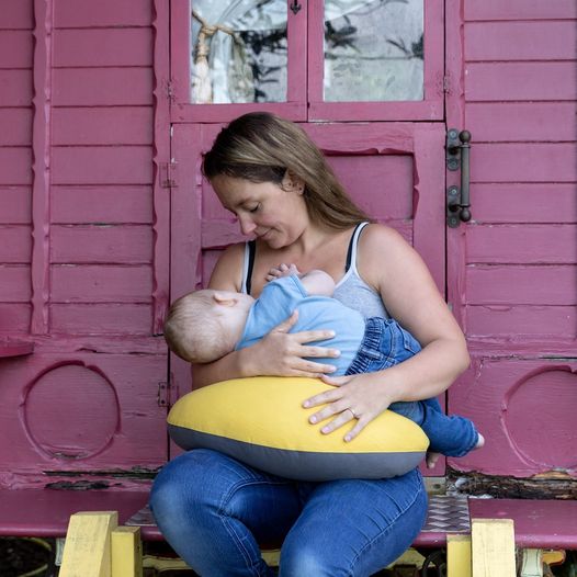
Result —
<path fill-rule="evenodd" d="M 150 508 L 165 539 L 202 577 L 272 576 L 258 543 L 282 542 L 281 577 L 366 577 L 420 531 L 418 469 L 381 480 L 298 483 L 195 449 L 158 474 Z"/>

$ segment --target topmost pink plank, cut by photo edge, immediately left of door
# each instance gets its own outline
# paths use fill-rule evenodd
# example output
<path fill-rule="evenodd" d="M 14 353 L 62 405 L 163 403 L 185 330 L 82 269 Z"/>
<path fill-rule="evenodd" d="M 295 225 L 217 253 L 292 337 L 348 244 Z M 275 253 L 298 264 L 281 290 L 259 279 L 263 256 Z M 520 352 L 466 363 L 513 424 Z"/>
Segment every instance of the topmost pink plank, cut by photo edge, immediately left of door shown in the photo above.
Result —
<path fill-rule="evenodd" d="M 54 24 L 64 27 L 146 26 L 152 14 L 151 0 L 58 0 Z"/>

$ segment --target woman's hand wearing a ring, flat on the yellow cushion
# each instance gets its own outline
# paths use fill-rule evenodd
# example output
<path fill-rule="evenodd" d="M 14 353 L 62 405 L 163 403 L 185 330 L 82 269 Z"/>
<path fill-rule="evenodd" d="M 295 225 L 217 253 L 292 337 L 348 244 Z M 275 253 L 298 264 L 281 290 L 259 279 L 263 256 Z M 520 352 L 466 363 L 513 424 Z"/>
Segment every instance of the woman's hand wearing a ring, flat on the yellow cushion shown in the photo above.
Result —
<path fill-rule="evenodd" d="M 353 428 L 344 435 L 347 442 L 352 441 L 394 400 L 383 395 L 383 387 L 376 386 L 374 374 L 323 376 L 323 381 L 335 388 L 315 395 L 303 403 L 305 408 L 325 405 L 320 410 L 310 415 L 308 421 L 316 425 L 332 418 L 320 429 L 320 432 L 325 434 L 331 433 L 350 421 L 355 421 Z"/>

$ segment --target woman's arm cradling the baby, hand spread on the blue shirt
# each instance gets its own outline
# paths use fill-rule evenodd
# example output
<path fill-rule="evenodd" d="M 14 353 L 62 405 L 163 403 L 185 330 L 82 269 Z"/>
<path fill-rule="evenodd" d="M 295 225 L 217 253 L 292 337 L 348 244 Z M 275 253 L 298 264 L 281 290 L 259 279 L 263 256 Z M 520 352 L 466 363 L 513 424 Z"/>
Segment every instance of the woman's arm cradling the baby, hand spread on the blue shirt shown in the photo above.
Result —
<path fill-rule="evenodd" d="M 225 250 L 211 275 L 210 288 L 240 291 L 244 250 L 244 245 L 235 245 Z M 332 365 L 316 363 L 304 357 L 338 357 L 339 352 L 336 350 L 308 344 L 332 338 L 333 331 L 290 333 L 296 320 L 295 312 L 257 344 L 230 352 L 213 363 L 192 365 L 193 388 L 244 376 L 320 376 L 331 373 L 335 370 Z"/>

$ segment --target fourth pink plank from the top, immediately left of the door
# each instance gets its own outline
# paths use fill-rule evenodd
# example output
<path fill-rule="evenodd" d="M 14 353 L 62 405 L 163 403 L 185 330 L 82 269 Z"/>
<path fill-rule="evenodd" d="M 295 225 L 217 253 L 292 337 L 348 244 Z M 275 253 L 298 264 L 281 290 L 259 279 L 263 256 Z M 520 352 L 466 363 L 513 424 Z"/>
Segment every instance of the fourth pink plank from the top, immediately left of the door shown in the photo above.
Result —
<path fill-rule="evenodd" d="M 150 106 L 55 109 L 53 145 L 152 144 Z"/>

